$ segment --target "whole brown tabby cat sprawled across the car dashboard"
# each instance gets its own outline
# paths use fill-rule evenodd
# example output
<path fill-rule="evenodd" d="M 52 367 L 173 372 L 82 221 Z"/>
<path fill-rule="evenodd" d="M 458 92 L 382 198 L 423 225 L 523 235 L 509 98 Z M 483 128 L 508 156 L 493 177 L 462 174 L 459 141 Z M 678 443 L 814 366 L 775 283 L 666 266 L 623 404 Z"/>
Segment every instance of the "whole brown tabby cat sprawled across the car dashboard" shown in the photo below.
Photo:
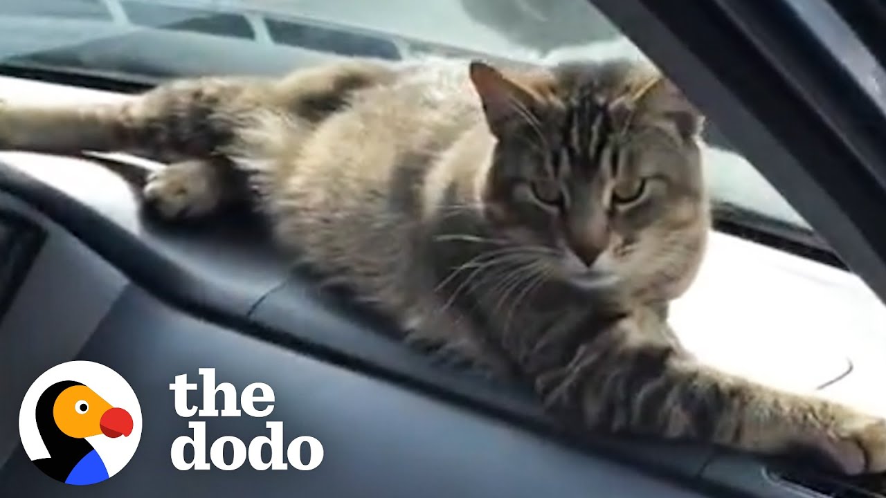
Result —
<path fill-rule="evenodd" d="M 886 471 L 886 421 L 704 365 L 669 328 L 710 228 L 703 121 L 638 61 L 346 59 L 8 103 L 0 149 L 166 161 L 144 201 L 169 220 L 246 192 L 406 342 L 532 386 L 564 424 Z"/>

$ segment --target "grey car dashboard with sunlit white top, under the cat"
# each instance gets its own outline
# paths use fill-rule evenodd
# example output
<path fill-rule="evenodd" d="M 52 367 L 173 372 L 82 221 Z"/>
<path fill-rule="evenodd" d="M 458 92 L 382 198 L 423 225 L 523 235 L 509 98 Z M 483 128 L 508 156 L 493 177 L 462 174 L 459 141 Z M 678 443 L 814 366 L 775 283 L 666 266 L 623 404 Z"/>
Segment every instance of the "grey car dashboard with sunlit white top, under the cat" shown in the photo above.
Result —
<path fill-rule="evenodd" d="M 0 78 L 0 97 L 122 98 L 15 78 Z M 837 484 L 813 490 L 781 464 L 719 448 L 579 440 L 518 387 L 447 370 L 393 340 L 389 323 L 321 290 L 276 250 L 253 214 L 153 220 L 139 207 L 137 182 L 115 170 L 158 166 L 114 154 L 0 153 L 0 394 L 7 400 L 0 495 L 71 493 L 28 461 L 18 417 L 35 377 L 74 359 L 119 372 L 143 411 L 142 439 L 126 468 L 75 490 L 92 496 L 835 493 Z M 886 415 L 882 400 L 867 395 L 886 373 L 886 313 L 842 269 L 714 233 L 698 282 L 672 315 L 703 361 Z M 169 384 L 199 368 L 216 369 L 218 382 L 238 388 L 272 386 L 268 419 L 284 421 L 285 440 L 320 440 L 323 463 L 313 471 L 177 471 L 170 445 L 190 433 L 189 420 L 176 414 Z M 214 418 L 207 439 L 251 440 L 266 435 L 265 422 Z"/>

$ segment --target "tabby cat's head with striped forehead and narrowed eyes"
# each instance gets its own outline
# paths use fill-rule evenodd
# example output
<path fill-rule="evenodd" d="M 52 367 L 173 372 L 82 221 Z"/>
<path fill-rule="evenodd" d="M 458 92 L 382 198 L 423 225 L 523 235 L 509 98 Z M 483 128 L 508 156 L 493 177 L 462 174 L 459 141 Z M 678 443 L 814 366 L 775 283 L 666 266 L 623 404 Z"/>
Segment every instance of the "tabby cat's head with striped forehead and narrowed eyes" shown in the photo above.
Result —
<path fill-rule="evenodd" d="M 653 66 L 562 64 L 506 75 L 470 64 L 496 138 L 482 202 L 498 237 L 550 276 L 671 300 L 708 230 L 703 117 Z"/>

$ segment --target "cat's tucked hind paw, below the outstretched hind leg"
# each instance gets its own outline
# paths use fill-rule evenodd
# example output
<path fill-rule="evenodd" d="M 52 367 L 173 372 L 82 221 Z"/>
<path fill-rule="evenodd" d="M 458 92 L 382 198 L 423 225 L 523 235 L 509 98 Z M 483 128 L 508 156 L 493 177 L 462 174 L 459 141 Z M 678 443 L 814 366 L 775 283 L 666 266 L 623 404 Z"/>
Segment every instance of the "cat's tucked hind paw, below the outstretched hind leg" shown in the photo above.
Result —
<path fill-rule="evenodd" d="M 194 218 L 219 205 L 221 186 L 211 165 L 192 160 L 153 172 L 143 194 L 144 202 L 168 220 Z"/>

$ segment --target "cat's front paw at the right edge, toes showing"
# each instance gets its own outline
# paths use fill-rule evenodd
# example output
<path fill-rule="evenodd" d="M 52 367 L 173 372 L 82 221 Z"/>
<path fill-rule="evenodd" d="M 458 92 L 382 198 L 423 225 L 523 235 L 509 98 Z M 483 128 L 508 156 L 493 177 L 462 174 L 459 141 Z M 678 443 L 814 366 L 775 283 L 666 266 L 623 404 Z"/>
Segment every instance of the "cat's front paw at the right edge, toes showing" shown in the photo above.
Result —
<path fill-rule="evenodd" d="M 815 446 L 848 475 L 886 472 L 886 420 L 847 413 Z"/>

